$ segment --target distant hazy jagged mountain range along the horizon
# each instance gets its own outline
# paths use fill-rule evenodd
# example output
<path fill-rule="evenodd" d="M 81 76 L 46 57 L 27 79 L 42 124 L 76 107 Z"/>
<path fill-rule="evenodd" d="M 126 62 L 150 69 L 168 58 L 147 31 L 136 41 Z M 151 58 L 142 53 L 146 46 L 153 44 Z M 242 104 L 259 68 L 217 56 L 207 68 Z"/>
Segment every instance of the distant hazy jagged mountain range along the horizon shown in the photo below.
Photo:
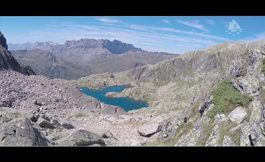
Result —
<path fill-rule="evenodd" d="M 112 54 L 120 55 L 132 52 L 147 52 L 136 48 L 132 44 L 123 43 L 118 40 L 107 39 L 80 39 L 67 40 L 64 44 L 53 42 L 35 42 L 24 44 L 8 44 L 9 50 L 32 50 L 42 49 L 51 52 L 55 56 L 65 60 L 88 62 L 94 58 L 106 58 Z"/>

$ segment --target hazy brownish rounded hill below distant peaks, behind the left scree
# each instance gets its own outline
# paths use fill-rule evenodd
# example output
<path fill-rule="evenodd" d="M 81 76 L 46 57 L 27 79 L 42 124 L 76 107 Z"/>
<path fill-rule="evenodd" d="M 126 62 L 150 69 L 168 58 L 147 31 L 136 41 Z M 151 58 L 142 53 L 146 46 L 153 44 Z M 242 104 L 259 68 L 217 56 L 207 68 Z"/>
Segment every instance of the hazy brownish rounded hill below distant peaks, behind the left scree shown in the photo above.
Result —
<path fill-rule="evenodd" d="M 92 68 L 86 64 L 66 61 L 40 49 L 16 50 L 11 53 L 19 62 L 30 65 L 37 75 L 51 79 L 77 79 L 93 73 Z"/>

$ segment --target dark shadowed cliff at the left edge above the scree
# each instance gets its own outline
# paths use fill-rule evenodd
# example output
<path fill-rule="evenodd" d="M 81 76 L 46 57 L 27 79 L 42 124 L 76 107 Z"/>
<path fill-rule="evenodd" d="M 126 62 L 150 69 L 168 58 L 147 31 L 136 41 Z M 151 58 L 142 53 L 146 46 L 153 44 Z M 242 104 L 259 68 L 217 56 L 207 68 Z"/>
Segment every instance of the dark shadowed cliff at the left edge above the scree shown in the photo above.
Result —
<path fill-rule="evenodd" d="M 25 75 L 35 75 L 30 66 L 17 62 L 7 48 L 6 38 L 0 33 L 0 70 L 12 69 Z"/>

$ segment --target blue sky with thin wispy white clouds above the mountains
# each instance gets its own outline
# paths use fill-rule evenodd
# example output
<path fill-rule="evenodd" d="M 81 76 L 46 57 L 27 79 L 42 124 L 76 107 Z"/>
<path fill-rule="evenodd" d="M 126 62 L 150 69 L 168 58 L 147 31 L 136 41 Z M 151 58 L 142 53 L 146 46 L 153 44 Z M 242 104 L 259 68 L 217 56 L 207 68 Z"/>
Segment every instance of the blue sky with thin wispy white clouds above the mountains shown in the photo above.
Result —
<path fill-rule="evenodd" d="M 233 20 L 237 33 L 231 32 Z M 225 41 L 265 40 L 265 16 L 0 16 L 0 31 L 8 43 L 117 39 L 182 54 Z"/>

